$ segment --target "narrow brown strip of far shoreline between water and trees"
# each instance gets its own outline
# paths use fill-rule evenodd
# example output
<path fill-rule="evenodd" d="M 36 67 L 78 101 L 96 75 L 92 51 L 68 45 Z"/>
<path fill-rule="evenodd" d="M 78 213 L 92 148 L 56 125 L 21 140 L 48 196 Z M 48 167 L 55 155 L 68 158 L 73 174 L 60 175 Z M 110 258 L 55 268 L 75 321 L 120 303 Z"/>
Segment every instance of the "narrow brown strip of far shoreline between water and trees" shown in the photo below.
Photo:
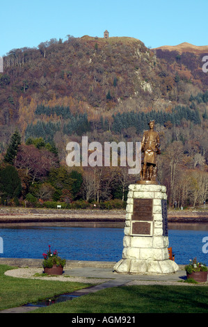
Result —
<path fill-rule="evenodd" d="M 42 209 L 0 207 L 1 223 L 125 222 L 125 209 Z M 168 210 L 169 223 L 208 223 L 208 211 Z"/>

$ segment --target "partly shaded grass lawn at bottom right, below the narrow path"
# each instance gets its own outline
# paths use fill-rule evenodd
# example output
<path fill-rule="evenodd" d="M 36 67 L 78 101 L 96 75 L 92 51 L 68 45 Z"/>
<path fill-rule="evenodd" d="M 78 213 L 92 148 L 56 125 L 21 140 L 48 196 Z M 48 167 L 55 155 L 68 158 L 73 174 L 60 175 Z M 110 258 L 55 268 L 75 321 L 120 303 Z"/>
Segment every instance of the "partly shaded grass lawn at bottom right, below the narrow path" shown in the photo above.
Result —
<path fill-rule="evenodd" d="M 56 303 L 32 313 L 205 313 L 208 287 L 126 286 L 104 289 L 94 294 Z"/>

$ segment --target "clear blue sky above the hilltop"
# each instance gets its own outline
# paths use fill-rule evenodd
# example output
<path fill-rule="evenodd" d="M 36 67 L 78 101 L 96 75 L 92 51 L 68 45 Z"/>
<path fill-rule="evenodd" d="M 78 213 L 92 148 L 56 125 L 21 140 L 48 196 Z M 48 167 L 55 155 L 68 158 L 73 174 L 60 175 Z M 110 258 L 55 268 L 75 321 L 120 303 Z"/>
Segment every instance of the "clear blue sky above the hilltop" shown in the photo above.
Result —
<path fill-rule="evenodd" d="M 2 3 L 3 2 L 3 3 Z M 73 35 L 129 36 L 146 47 L 208 45 L 207 0 L 1 0 L 0 56 Z"/>

